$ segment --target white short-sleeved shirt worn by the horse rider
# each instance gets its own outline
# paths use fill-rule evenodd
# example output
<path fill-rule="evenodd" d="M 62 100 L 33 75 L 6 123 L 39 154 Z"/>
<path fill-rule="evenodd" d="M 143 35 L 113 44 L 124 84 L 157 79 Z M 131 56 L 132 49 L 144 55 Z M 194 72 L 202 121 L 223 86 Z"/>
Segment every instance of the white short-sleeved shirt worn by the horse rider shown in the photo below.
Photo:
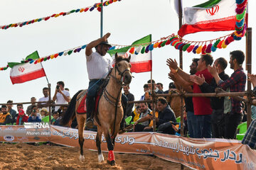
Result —
<path fill-rule="evenodd" d="M 103 79 L 112 69 L 112 57 L 109 54 L 101 56 L 97 52 L 86 55 L 86 65 L 89 79 Z"/>

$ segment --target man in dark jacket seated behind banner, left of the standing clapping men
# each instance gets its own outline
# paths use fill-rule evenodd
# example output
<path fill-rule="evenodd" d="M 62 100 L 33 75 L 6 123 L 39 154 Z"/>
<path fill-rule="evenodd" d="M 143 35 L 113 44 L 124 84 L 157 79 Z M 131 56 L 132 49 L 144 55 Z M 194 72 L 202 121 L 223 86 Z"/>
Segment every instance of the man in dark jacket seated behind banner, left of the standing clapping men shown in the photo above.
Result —
<path fill-rule="evenodd" d="M 161 128 L 160 130 L 160 126 L 164 125 L 164 123 L 168 123 L 170 121 L 176 123 L 176 117 L 174 115 L 174 111 L 171 110 L 170 106 L 166 101 L 166 98 L 164 97 L 158 98 L 157 109 L 159 111 L 159 118 L 156 118 L 156 123 L 159 126 L 159 131 L 166 134 L 175 135 L 175 130 L 169 126 L 165 128 Z"/>

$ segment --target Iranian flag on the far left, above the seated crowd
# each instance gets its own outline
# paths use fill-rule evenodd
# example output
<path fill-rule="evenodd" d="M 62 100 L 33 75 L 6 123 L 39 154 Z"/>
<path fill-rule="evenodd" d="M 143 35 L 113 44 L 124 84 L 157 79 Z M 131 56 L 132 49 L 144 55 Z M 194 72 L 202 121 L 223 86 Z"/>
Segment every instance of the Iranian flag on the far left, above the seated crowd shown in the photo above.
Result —
<path fill-rule="evenodd" d="M 38 60 L 38 52 L 33 52 L 31 55 L 26 57 L 26 60 Z M 18 63 L 18 62 L 9 62 L 9 67 L 11 67 L 10 78 L 12 84 L 21 84 L 26 81 L 31 81 L 33 79 L 38 79 L 40 77 L 45 77 L 46 73 L 43 69 L 43 66 L 40 63 L 30 64 L 27 63 Z"/>

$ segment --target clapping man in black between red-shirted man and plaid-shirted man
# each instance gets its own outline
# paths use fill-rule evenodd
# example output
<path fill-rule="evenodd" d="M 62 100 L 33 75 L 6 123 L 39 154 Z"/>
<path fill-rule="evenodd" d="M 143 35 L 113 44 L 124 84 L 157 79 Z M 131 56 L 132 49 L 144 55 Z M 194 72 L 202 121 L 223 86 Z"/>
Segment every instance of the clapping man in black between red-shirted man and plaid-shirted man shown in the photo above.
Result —
<path fill-rule="evenodd" d="M 223 57 L 215 60 L 214 65 L 217 68 L 220 79 L 225 81 L 229 78 L 228 74 L 224 72 L 228 62 Z M 215 93 L 215 88 L 218 87 L 215 79 L 212 79 L 210 84 L 208 84 L 201 75 L 193 77 L 192 81 L 199 85 L 203 93 Z M 212 135 L 214 138 L 223 138 L 225 137 L 224 97 L 211 97 L 210 106 L 213 109 L 211 115 Z"/>

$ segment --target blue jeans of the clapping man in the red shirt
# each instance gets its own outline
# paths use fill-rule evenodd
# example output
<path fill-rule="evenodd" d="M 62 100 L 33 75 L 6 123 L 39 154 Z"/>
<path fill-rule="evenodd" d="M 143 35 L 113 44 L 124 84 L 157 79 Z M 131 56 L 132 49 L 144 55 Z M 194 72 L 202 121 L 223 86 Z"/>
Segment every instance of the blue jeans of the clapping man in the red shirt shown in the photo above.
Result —
<path fill-rule="evenodd" d="M 195 115 L 196 117 L 196 138 L 211 138 L 210 115 Z"/>

